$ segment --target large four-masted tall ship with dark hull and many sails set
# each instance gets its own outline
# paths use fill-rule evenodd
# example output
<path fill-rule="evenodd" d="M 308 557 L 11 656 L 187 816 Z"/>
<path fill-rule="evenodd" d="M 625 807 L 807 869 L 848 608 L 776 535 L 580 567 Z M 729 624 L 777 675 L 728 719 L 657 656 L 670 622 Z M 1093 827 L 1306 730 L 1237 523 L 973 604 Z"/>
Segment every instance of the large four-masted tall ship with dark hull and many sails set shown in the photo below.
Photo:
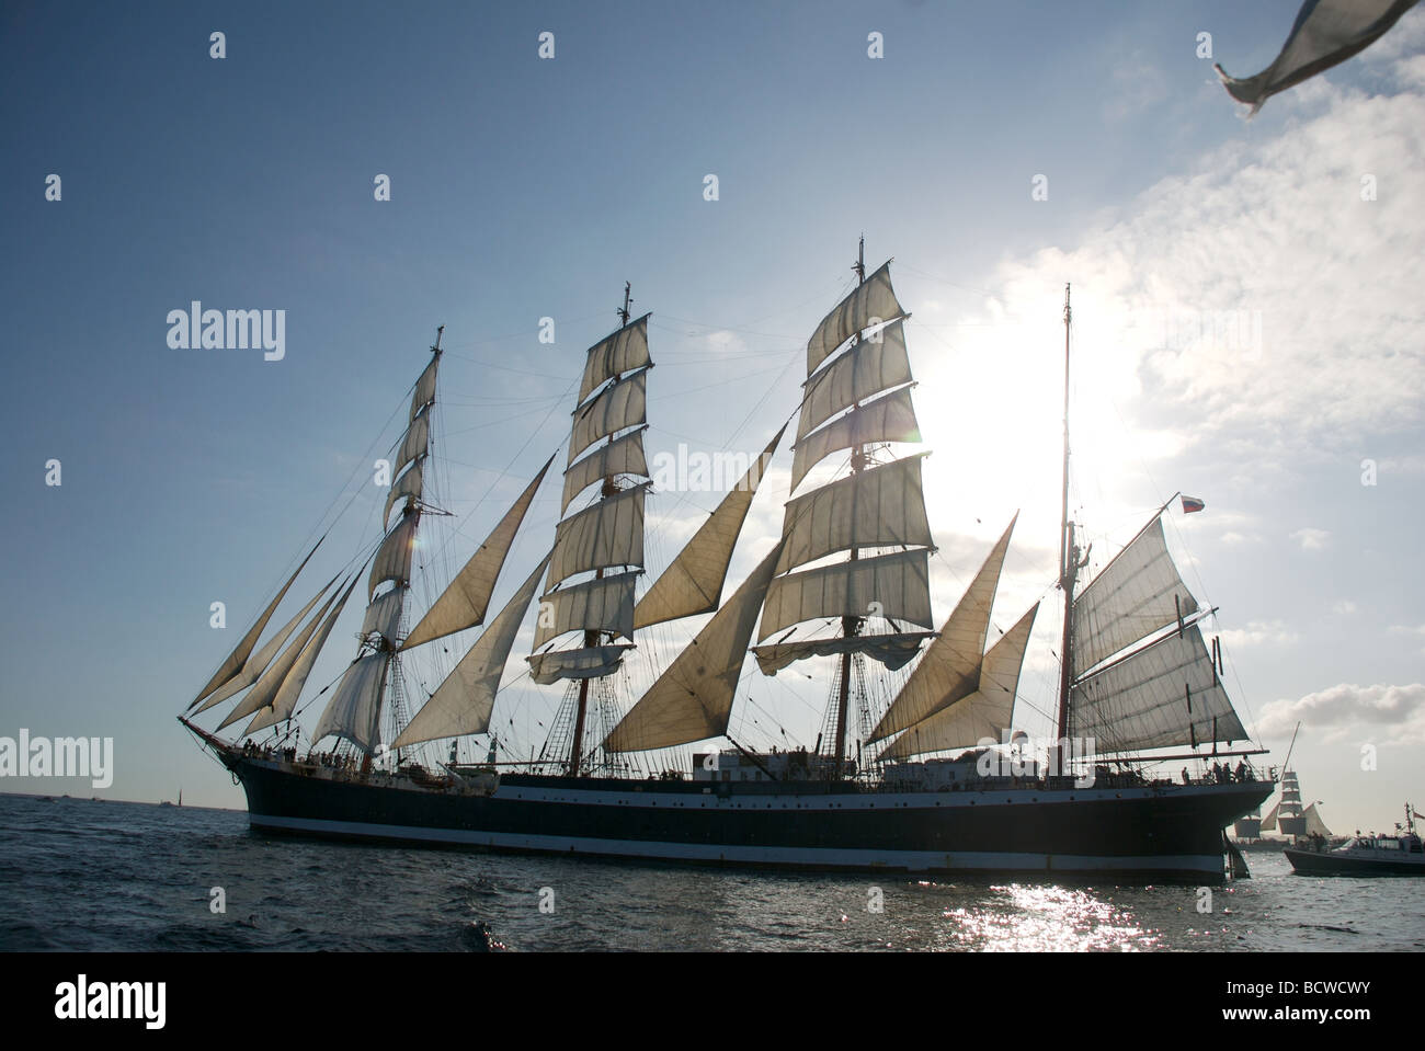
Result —
<path fill-rule="evenodd" d="M 252 829 L 814 870 L 1224 879 L 1226 826 L 1274 782 L 1251 766 L 1261 749 L 1223 688 L 1217 641 L 1203 637 L 1216 611 L 1200 608 L 1168 554 L 1173 501 L 1083 580 L 1089 551 L 1069 517 L 1069 289 L 1050 584 L 1063 602 L 1057 712 L 1052 743 L 1035 751 L 1013 726 L 1039 604 L 989 639 L 1015 521 L 936 628 L 928 453 L 905 453 L 921 441 L 909 315 L 891 263 L 866 272 L 864 239 L 854 271 L 855 288 L 807 343 L 792 417 L 651 582 L 651 315 L 631 316 L 626 283 L 620 326 L 584 356 L 566 446 L 413 617 L 413 553 L 428 570 L 440 561 L 420 530 L 449 517 L 435 488 L 449 476 L 432 464 L 437 333 L 392 447 L 379 540 L 264 641 L 329 533 L 304 548 L 180 716 L 242 785 Z M 781 534 L 747 538 L 760 557 L 725 594 L 792 419 Z M 560 451 L 549 537 L 529 511 Z M 544 554 L 512 558 L 524 540 Z M 486 624 L 506 575 L 513 588 Z M 298 716 L 328 692 L 304 704 L 308 678 L 361 582 L 356 654 L 306 735 Z M 532 642 L 516 658 L 522 638 Z M 413 674 L 423 654 L 433 661 Z M 647 685 L 630 674 L 636 654 Z M 751 684 L 788 669 L 825 684 L 815 741 L 734 739 Z M 517 739 L 509 711 L 533 688 L 559 691 L 540 742 Z M 202 729 L 197 718 L 219 705 L 231 705 L 225 718 Z"/>

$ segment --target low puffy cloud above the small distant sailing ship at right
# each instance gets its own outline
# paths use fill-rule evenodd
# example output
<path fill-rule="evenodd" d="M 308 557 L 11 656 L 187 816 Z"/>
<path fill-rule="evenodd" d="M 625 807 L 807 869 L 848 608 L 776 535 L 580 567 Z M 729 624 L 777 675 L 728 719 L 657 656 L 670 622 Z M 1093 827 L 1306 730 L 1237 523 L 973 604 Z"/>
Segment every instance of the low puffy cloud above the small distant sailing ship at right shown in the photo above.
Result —
<path fill-rule="evenodd" d="M 1425 743 L 1425 684 L 1357 686 L 1342 682 L 1298 701 L 1273 701 L 1263 709 L 1258 728 L 1263 736 L 1285 736 L 1297 722 L 1324 731 L 1328 742 L 1371 739 L 1385 731 L 1382 743 Z"/>

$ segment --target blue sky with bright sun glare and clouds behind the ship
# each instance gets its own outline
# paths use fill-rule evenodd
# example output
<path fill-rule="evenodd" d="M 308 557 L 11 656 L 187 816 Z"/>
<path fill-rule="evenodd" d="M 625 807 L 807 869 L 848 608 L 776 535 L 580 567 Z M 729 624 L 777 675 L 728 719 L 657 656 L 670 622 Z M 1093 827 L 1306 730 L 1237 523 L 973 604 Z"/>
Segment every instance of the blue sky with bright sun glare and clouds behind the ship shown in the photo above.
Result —
<path fill-rule="evenodd" d="M 1419 299 L 1401 285 L 1425 241 L 1421 17 L 1244 122 L 1197 34 L 1247 75 L 1295 10 L 7 4 L 0 735 L 113 735 L 110 795 L 182 783 L 241 806 L 172 715 L 363 469 L 436 325 L 447 496 L 470 516 L 453 543 L 469 553 L 563 439 L 566 387 L 626 279 L 636 313 L 654 310 L 651 441 L 755 450 L 795 406 L 797 366 L 781 366 L 865 232 L 916 315 L 916 399 L 942 471 L 928 474 L 936 615 L 1017 507 L 996 625 L 1052 578 L 1073 281 L 1076 506 L 1096 551 L 1174 490 L 1203 496 L 1207 513 L 1170 535 L 1223 607 L 1238 706 L 1288 706 L 1265 721 L 1274 749 L 1307 718 L 1305 790 L 1330 790 L 1328 820 L 1384 823 L 1425 796 L 1411 760 L 1425 745 L 1425 370 Z M 1379 178 L 1374 211 L 1359 172 Z M 376 174 L 389 202 L 373 201 Z M 1036 174 L 1047 201 L 1030 199 Z M 285 309 L 285 359 L 170 349 L 165 315 L 192 299 Z M 1263 353 L 1150 353 L 1143 330 L 1167 302 L 1257 312 Z M 58 488 L 43 484 L 51 457 Z M 1372 490 L 1365 457 L 1384 464 Z M 553 500 L 532 523 L 551 528 Z M 351 550 L 373 535 L 375 513 L 356 517 Z M 764 497 L 750 528 L 778 520 Z M 328 554 L 312 580 L 345 557 Z M 214 600 L 225 634 L 208 628 Z M 314 684 L 348 659 L 355 615 Z M 1025 689 L 1047 678 L 1032 659 Z M 1368 776 L 1362 742 L 1381 748 Z"/>

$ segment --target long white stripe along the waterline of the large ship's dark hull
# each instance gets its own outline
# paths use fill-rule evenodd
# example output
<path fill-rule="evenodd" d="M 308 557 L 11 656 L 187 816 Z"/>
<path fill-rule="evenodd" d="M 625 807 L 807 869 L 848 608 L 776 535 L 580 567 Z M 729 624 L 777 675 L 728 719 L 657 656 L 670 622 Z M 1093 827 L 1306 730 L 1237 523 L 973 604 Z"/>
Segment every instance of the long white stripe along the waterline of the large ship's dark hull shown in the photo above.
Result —
<path fill-rule="evenodd" d="M 409 825 L 333 822 L 319 817 L 249 815 L 255 829 L 285 829 L 335 836 L 459 843 L 550 854 L 591 854 L 657 860 L 727 862 L 815 869 L 896 869 L 905 872 L 1181 872 L 1220 879 L 1221 854 L 1159 854 L 1093 857 L 1079 854 L 986 853 L 978 850 L 844 850 L 819 847 L 734 846 L 720 843 L 663 843 L 636 839 L 586 839 L 520 833 L 425 829 Z"/>

